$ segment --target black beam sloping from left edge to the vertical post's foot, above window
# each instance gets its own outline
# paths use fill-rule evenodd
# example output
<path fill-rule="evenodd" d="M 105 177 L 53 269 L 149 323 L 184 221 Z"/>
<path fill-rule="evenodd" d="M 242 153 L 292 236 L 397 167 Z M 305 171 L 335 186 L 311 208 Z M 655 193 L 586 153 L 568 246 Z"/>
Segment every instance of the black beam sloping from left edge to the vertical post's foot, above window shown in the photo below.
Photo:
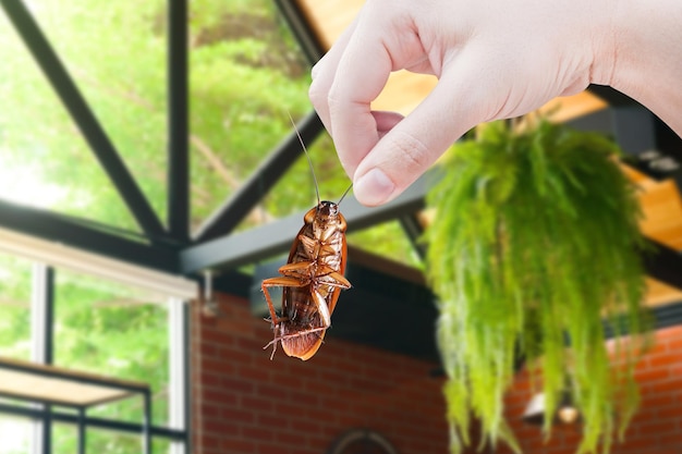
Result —
<path fill-rule="evenodd" d="M 173 273 L 178 271 L 174 245 L 149 245 L 127 240 L 96 229 L 93 223 L 54 212 L 0 200 L 0 225 L 143 267 Z"/>

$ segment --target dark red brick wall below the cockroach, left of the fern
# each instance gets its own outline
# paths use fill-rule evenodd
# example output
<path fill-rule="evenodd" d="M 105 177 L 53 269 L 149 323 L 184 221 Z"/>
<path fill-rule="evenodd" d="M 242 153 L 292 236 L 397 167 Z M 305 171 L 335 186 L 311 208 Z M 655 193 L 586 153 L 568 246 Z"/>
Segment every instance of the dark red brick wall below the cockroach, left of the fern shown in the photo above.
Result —
<path fill-rule="evenodd" d="M 401 454 L 448 452 L 437 365 L 336 339 L 307 361 L 281 348 L 271 361 L 272 331 L 248 302 L 219 304 L 218 318 L 193 311 L 193 452 L 322 454 L 350 428 Z"/>

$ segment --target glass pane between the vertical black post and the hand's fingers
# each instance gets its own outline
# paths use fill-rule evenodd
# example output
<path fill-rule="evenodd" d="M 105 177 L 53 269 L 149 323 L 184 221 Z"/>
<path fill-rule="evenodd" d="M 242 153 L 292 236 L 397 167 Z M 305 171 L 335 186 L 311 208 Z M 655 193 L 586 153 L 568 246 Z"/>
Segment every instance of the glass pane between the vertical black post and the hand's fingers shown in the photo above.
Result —
<path fill-rule="evenodd" d="M 198 0 L 191 8 L 196 228 L 291 131 L 288 112 L 312 108 L 308 64 L 275 2 Z"/>

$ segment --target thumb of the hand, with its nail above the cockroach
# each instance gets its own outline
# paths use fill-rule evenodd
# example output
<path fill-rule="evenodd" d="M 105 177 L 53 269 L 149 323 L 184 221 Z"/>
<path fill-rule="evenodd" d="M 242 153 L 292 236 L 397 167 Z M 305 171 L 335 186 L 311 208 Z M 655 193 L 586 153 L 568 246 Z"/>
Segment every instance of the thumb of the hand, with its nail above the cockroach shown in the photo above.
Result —
<path fill-rule="evenodd" d="M 361 204 L 377 206 L 398 197 L 458 138 L 485 120 L 480 106 L 471 102 L 478 84 L 465 78 L 470 77 L 451 77 L 443 70 L 431 93 L 365 156 L 353 175 L 353 193 Z"/>

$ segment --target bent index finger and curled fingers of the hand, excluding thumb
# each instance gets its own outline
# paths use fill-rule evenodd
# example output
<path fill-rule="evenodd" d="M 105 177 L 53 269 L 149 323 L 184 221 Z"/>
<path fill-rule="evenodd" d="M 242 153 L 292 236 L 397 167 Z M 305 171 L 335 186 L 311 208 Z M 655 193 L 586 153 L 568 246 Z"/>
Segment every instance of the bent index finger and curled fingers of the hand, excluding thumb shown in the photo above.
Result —
<path fill-rule="evenodd" d="M 385 135 L 378 119 L 398 114 L 373 113 L 370 103 L 383 90 L 392 71 L 411 69 L 433 73 L 416 27 L 413 3 L 370 1 L 316 69 L 310 98 L 331 133 L 339 160 L 352 176 L 365 155 Z M 387 14 L 390 7 L 390 14 Z M 406 26 L 407 25 L 407 26 Z"/>

